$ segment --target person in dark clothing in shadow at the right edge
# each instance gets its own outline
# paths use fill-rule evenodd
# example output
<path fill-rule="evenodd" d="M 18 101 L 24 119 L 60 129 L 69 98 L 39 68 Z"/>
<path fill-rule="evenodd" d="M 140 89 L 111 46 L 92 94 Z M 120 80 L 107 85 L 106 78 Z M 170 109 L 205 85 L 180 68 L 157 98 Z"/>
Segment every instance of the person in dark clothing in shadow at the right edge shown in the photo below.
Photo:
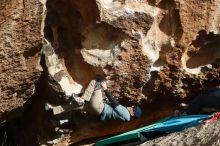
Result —
<path fill-rule="evenodd" d="M 181 104 L 183 109 L 182 113 L 175 111 L 174 115 L 195 115 L 201 111 L 207 110 L 208 112 L 220 110 L 220 88 L 211 88 L 202 91 L 202 94 L 197 96 L 190 104 Z M 178 113 L 179 112 L 179 113 Z"/>

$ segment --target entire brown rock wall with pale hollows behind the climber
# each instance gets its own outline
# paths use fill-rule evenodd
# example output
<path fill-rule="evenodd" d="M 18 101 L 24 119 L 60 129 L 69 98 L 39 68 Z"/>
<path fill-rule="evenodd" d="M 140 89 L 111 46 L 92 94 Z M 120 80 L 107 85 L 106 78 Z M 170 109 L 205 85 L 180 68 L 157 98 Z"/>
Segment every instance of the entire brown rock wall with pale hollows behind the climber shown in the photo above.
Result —
<path fill-rule="evenodd" d="M 81 93 L 96 75 L 108 79 L 122 104 L 142 105 L 141 119 L 112 127 L 73 113 L 65 144 L 142 126 L 220 85 L 219 0 L 7 0 L 0 6 L 2 113 L 36 92 L 33 101 L 41 106 L 31 108 L 38 115 L 32 122 L 45 134 L 39 107 Z"/>

